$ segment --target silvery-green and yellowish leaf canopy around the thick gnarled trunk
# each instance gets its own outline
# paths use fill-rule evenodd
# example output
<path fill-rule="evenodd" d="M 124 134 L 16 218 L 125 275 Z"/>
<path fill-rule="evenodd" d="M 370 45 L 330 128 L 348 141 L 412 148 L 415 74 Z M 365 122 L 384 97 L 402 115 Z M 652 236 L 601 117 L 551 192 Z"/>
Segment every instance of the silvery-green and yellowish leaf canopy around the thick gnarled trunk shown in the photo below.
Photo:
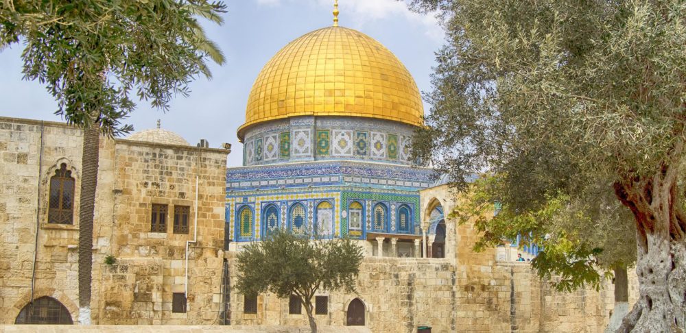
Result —
<path fill-rule="evenodd" d="M 502 204 L 477 221 L 478 246 L 522 234 L 545 247 L 534 268 L 562 275 L 563 289 L 635 262 L 635 219 L 613 184 L 683 160 L 686 3 L 412 5 L 436 10 L 447 32 L 413 153 L 475 190 L 472 210 Z M 484 171 L 493 177 L 470 188 Z"/>

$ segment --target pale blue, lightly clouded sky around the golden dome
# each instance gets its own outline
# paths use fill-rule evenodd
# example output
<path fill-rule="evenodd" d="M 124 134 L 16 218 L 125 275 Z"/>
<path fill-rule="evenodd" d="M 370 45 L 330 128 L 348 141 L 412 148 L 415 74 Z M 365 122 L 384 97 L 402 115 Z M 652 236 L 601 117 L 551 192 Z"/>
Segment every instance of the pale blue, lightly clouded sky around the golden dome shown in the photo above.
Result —
<path fill-rule="evenodd" d="M 200 77 L 189 97 L 178 96 L 168 112 L 139 101 L 124 122 L 134 132 L 162 128 L 183 136 L 191 145 L 200 139 L 210 147 L 233 145 L 228 166 L 241 165 L 243 146 L 236 136 L 245 121 L 250 88 L 264 64 L 288 42 L 332 24 L 333 0 L 226 0 L 224 25 L 204 25 L 226 56 L 226 64 L 211 64 L 212 79 Z M 340 0 L 339 24 L 357 29 L 390 49 L 412 73 L 420 91 L 429 91 L 434 52 L 443 42 L 436 18 L 407 9 L 397 0 Z M 57 103 L 45 86 L 25 81 L 21 74 L 23 45 L 0 51 L 0 115 L 63 121 L 54 114 Z M 425 110 L 428 110 L 425 104 Z"/>

